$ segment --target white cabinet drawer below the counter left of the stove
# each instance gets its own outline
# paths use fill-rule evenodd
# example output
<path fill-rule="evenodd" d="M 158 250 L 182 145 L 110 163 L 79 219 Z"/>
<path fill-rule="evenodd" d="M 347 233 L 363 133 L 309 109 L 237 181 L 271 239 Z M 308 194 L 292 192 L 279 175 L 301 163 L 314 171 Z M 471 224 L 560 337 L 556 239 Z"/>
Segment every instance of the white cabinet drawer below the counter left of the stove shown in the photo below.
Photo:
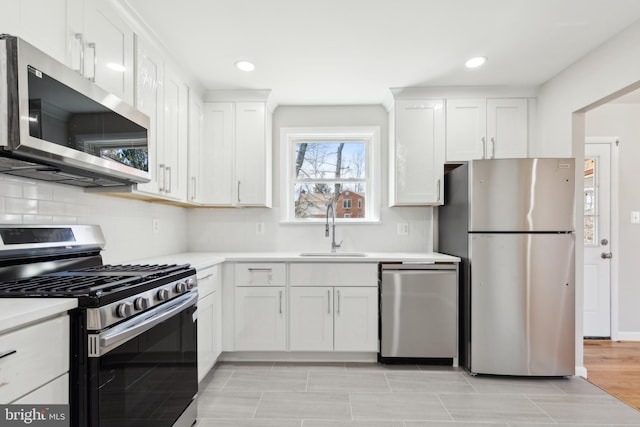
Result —
<path fill-rule="evenodd" d="M 8 403 L 69 371 L 69 317 L 57 317 L 5 335 L 0 352 L 0 403 Z"/>

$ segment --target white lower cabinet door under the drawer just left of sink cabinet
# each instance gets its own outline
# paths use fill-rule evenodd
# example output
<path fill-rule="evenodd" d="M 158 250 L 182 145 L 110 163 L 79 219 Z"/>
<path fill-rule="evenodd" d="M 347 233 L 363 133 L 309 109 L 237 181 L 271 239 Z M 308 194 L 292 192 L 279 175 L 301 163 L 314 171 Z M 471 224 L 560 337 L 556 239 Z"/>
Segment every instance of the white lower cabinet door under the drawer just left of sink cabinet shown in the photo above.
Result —
<path fill-rule="evenodd" d="M 285 288 L 235 288 L 235 349 L 238 351 L 285 350 Z"/>

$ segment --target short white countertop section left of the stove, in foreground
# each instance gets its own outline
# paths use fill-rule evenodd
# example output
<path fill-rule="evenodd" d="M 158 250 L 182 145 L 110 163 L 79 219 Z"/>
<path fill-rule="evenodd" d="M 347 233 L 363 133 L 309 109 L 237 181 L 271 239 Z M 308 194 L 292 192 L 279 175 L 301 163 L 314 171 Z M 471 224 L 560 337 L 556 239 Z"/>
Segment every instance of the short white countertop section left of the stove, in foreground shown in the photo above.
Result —
<path fill-rule="evenodd" d="M 2 298 L 0 334 L 47 317 L 64 314 L 77 306 L 75 298 Z"/>

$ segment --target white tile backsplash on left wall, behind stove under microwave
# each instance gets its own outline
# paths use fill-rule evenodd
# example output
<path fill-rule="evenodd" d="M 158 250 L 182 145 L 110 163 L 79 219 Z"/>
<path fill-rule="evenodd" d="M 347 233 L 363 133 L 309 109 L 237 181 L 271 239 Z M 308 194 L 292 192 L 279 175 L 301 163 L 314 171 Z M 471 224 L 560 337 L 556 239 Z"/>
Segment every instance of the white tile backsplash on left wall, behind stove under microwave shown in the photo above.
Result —
<path fill-rule="evenodd" d="M 152 218 L 160 221 L 153 233 Z M 186 210 L 0 175 L 0 224 L 98 224 L 105 263 L 184 252 Z"/>

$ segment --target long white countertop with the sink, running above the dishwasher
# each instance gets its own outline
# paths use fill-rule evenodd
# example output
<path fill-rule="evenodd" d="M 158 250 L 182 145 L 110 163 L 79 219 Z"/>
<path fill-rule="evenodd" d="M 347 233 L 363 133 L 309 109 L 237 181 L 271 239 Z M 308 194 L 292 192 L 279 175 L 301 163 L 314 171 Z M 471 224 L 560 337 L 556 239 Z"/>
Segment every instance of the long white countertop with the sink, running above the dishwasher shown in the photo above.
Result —
<path fill-rule="evenodd" d="M 459 262 L 437 252 L 365 252 L 366 256 L 301 256 L 302 252 L 183 252 L 131 261 L 133 264 L 191 264 L 197 270 L 223 262 Z"/>

